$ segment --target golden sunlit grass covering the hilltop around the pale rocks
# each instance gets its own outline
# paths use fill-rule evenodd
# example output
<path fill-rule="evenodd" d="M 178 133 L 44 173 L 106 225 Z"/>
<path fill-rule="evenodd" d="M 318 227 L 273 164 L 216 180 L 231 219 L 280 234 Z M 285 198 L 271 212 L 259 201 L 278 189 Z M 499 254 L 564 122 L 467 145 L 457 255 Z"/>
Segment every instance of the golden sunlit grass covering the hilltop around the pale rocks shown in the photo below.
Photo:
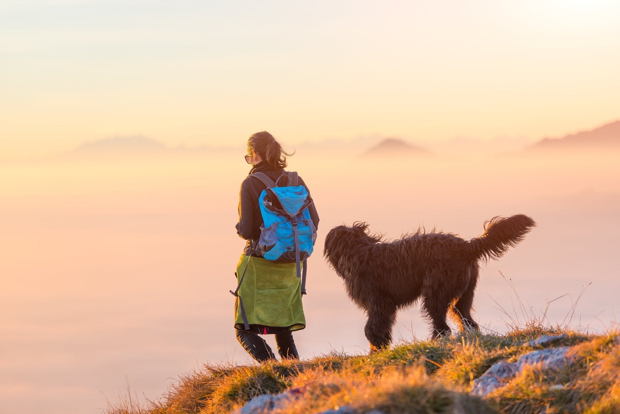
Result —
<path fill-rule="evenodd" d="M 620 413 L 618 332 L 588 335 L 528 323 L 506 335 L 466 333 L 404 343 L 370 355 L 332 353 L 302 361 L 209 366 L 180 378 L 159 402 L 125 399 L 107 414 L 229 413 L 252 397 L 293 390 L 273 413 Z M 572 364 L 528 366 L 484 398 L 469 394 L 495 362 L 513 362 L 541 335 L 566 333 L 548 347 L 570 346 Z M 269 412 L 269 411 L 265 411 Z"/>

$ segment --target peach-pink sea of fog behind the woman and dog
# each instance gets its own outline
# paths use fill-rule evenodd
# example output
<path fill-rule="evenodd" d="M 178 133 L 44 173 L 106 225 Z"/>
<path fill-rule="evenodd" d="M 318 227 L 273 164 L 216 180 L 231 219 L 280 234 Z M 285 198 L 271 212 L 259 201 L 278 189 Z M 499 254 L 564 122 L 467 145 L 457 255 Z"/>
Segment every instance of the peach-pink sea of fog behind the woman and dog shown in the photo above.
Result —
<path fill-rule="evenodd" d="M 0 385 L 9 411 L 98 413 L 125 376 L 154 398 L 170 377 L 205 361 L 248 362 L 234 338 L 234 231 L 239 185 L 250 166 L 238 153 L 0 166 Z M 363 314 L 321 256 L 329 228 L 358 220 L 398 238 L 423 225 L 472 238 L 495 215 L 528 214 L 538 227 L 500 261 L 483 266 L 476 318 L 506 330 L 516 297 L 531 312 L 569 292 L 573 326 L 616 321 L 620 288 L 617 153 L 381 156 L 299 150 L 290 168 L 308 183 L 321 216 L 309 261 L 308 328 L 301 355 L 366 352 Z M 571 297 L 553 302 L 562 322 Z M 427 337 L 417 308 L 395 336 Z M 273 344 L 272 338 L 268 341 Z M 41 394 L 48 384 L 53 392 Z M 49 387 L 48 387 L 49 388 Z M 29 400 L 32 406 L 25 407 Z M 50 404 L 53 401 L 53 404 Z"/>

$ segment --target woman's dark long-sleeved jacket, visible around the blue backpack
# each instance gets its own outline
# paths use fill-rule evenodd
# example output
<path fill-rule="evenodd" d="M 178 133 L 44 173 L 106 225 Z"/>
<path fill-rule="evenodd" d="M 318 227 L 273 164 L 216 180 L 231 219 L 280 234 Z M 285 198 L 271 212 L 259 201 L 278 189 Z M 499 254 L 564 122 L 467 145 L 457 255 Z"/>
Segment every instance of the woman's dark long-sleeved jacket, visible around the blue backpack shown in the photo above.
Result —
<path fill-rule="evenodd" d="M 266 161 L 260 161 L 260 163 L 256 164 L 254 168 L 250 170 L 250 174 L 267 174 L 273 182 L 277 181 L 284 172 L 285 170 L 283 168 L 275 169 Z M 285 181 L 286 179 L 282 180 Z M 279 185 L 282 185 L 281 181 Z M 301 177 L 299 177 L 299 185 L 306 187 L 306 191 L 310 194 L 308 186 L 306 186 L 306 183 Z M 254 243 L 259 241 L 260 226 L 263 224 L 263 217 L 259 209 L 259 196 L 265 188 L 267 188 L 267 186 L 257 177 L 248 176 L 241 183 L 241 191 L 239 191 L 239 223 L 237 223 L 236 228 L 237 234 L 247 240 L 243 254 L 250 253 L 250 241 L 253 240 Z M 314 226 L 319 228 L 319 214 L 316 212 L 314 203 L 309 205 L 308 212 L 310 213 L 310 218 L 312 218 Z M 260 257 L 260 253 L 252 251 L 252 256 Z"/>

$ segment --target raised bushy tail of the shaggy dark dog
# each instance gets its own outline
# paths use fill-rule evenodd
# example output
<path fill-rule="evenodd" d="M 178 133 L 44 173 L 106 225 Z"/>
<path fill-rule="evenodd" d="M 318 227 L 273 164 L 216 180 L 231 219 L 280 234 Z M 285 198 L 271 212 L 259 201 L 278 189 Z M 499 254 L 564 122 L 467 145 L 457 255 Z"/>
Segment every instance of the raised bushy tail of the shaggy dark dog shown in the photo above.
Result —
<path fill-rule="evenodd" d="M 491 218 L 484 223 L 484 234 L 469 241 L 470 251 L 474 257 L 485 261 L 499 259 L 535 226 L 534 220 L 523 214 Z"/>

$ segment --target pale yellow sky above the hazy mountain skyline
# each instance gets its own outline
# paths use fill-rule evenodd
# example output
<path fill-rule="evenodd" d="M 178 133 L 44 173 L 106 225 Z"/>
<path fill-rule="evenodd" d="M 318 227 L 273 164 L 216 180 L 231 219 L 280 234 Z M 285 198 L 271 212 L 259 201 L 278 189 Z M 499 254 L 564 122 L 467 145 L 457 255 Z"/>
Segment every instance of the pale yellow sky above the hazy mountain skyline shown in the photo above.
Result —
<path fill-rule="evenodd" d="M 0 159 L 145 135 L 561 136 L 620 118 L 610 0 L 0 4 Z"/>

